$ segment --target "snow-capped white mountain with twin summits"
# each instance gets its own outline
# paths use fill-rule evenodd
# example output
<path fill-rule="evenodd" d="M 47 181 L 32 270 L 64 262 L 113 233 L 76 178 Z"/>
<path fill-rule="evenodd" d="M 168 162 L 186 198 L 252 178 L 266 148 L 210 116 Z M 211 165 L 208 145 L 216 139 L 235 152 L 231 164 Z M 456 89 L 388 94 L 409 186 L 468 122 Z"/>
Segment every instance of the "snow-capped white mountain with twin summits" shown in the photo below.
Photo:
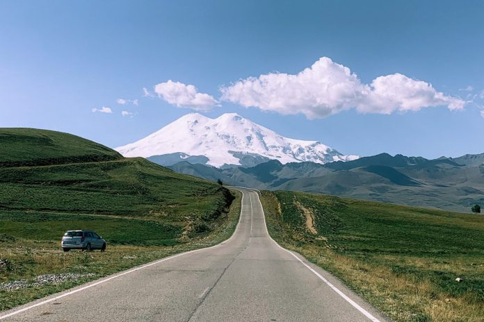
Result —
<path fill-rule="evenodd" d="M 188 160 L 214 167 L 252 166 L 268 160 L 323 164 L 359 158 L 343 155 L 317 141 L 283 137 L 235 113 L 216 119 L 198 113 L 184 115 L 144 139 L 115 150 L 125 157 L 161 157 L 159 160 L 171 160 L 172 164 Z"/>

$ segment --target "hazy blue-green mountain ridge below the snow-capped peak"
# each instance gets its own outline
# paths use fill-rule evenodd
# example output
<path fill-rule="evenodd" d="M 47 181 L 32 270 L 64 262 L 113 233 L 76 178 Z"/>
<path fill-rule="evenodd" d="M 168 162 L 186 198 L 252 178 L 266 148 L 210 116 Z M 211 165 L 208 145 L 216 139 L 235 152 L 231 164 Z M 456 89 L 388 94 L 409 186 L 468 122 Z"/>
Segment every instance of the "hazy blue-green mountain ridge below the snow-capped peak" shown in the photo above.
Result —
<path fill-rule="evenodd" d="M 380 153 L 348 162 L 282 164 L 271 160 L 230 169 L 179 162 L 169 168 L 257 189 L 332 194 L 458 212 L 469 212 L 475 203 L 484 205 L 484 153 L 435 160 Z"/>

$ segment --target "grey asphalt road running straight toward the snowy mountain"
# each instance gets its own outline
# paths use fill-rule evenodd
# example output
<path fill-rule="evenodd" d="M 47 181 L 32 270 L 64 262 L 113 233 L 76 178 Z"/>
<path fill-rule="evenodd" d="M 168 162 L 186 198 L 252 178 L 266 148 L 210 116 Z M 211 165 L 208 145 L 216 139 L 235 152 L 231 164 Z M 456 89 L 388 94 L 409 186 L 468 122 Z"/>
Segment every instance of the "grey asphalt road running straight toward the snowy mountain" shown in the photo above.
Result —
<path fill-rule="evenodd" d="M 0 318 L 24 310 L 2 321 L 387 321 L 330 274 L 275 244 L 257 192 L 242 191 L 239 225 L 223 244 Z"/>

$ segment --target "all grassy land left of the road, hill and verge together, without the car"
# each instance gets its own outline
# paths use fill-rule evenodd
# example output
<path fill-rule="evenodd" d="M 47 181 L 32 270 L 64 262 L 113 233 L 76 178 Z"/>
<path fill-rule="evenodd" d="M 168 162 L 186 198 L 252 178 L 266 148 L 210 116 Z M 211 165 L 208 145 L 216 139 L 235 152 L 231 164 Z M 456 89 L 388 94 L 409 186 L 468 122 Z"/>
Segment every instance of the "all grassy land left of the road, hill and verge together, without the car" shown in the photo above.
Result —
<path fill-rule="evenodd" d="M 236 225 L 239 201 L 216 183 L 65 133 L 2 129 L 0 140 L 0 310 L 220 242 Z M 108 251 L 63 253 L 74 229 L 95 230 Z M 39 284 L 46 274 L 54 282 Z"/>

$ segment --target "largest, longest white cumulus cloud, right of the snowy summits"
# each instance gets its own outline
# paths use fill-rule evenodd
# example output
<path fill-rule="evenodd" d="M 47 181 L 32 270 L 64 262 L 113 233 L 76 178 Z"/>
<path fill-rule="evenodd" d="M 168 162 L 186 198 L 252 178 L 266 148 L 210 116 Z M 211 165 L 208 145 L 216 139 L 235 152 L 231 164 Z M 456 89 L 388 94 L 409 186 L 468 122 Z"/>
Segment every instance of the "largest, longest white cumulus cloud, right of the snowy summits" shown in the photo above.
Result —
<path fill-rule="evenodd" d="M 417 111 L 431 106 L 449 110 L 464 108 L 465 101 L 437 92 L 432 85 L 403 74 L 379 76 L 361 83 L 348 67 L 320 58 L 300 73 L 270 73 L 221 87 L 221 100 L 245 107 L 302 113 L 309 119 L 334 115 L 355 108 L 362 113 L 391 114 Z"/>

